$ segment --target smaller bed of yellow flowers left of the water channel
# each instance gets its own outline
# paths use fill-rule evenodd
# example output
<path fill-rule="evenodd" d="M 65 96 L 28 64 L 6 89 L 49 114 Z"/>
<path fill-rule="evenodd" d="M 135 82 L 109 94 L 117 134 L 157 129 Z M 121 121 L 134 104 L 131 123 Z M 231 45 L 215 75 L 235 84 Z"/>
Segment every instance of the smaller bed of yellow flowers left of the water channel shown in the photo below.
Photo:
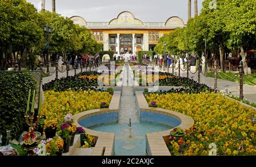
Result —
<path fill-rule="evenodd" d="M 42 115 L 46 120 L 62 120 L 68 113 L 75 115 L 79 112 L 100 108 L 102 102 L 109 105 L 112 95 L 108 92 L 89 91 L 44 91 Z"/>

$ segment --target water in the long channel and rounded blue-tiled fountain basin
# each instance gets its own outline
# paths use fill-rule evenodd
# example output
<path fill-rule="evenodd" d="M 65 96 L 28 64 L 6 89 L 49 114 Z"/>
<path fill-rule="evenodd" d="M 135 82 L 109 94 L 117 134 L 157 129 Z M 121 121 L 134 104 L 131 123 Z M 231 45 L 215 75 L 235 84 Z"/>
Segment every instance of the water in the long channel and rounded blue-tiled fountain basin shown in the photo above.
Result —
<path fill-rule="evenodd" d="M 129 65 L 123 68 L 123 90 L 118 123 L 90 127 L 101 132 L 115 133 L 115 155 L 146 155 L 146 133 L 169 130 L 173 127 L 162 124 L 139 122 L 138 108 L 133 93 L 133 71 Z M 129 122 L 129 128 L 127 128 Z M 131 129 L 131 124 L 133 128 Z"/>

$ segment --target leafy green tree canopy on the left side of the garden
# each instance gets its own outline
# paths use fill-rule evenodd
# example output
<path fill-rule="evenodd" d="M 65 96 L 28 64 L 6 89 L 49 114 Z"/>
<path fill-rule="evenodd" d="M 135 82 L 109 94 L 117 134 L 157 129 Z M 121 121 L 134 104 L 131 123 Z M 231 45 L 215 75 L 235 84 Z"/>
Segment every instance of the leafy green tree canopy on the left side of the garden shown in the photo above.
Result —
<path fill-rule="evenodd" d="M 52 27 L 48 39 L 43 30 L 44 25 Z M 73 24 L 69 18 L 56 12 L 38 12 L 26 0 L 0 0 L 1 69 L 6 68 L 8 61 L 18 62 L 20 67 L 22 61 L 33 60 L 32 63 L 35 63 L 36 55 L 45 59 L 47 40 L 52 59 L 65 57 L 67 53 L 95 54 L 102 48 L 102 44 L 93 39 L 89 30 Z M 31 65 L 28 66 L 31 68 Z"/>

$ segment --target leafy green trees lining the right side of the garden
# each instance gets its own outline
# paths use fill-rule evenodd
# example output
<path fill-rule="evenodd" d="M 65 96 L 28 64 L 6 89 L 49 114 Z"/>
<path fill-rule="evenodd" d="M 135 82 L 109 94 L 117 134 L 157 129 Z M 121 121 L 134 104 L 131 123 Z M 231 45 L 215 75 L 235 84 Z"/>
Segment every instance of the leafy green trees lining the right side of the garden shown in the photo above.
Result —
<path fill-rule="evenodd" d="M 162 54 L 166 43 L 167 50 L 174 55 L 193 52 L 201 56 L 206 40 L 208 55 L 220 59 L 222 70 L 224 53 L 233 50 L 241 53 L 246 69 L 246 53 L 256 48 L 256 1 L 219 0 L 216 8 L 210 7 L 210 2 L 203 2 L 200 15 L 189 19 L 187 26 L 161 37 L 155 51 Z"/>

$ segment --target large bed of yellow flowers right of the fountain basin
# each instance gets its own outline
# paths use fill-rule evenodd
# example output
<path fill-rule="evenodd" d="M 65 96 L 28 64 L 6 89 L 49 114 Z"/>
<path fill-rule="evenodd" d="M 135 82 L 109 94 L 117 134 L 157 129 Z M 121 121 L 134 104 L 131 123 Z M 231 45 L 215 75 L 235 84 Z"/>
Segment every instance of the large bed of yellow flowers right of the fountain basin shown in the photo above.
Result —
<path fill-rule="evenodd" d="M 184 140 L 169 136 L 171 155 L 208 155 L 209 144 L 217 145 L 217 155 L 256 155 L 256 111 L 221 94 L 150 94 L 148 104 L 181 112 L 195 120 Z M 182 147 L 181 147 L 182 145 Z"/>

